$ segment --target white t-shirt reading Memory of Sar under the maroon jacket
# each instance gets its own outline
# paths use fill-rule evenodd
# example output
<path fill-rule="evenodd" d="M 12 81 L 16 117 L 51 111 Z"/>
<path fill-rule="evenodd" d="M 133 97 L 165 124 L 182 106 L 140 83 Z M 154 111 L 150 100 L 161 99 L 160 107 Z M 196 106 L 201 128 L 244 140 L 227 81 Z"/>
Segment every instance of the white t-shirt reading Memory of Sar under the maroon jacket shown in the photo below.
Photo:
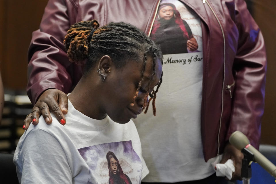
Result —
<path fill-rule="evenodd" d="M 200 112 L 202 101 L 202 29 L 199 16 L 178 0 L 162 0 L 172 7 L 170 21 L 156 16 L 151 36 L 161 44 L 163 82 L 157 93 L 156 116 L 149 108 L 133 121 L 141 137 L 143 157 L 150 170 L 144 182 L 180 182 L 206 178 L 215 171 L 204 161 Z M 164 8 L 168 11 L 168 7 Z M 176 21 L 176 20 L 181 21 Z M 185 29 L 180 23 L 183 22 Z M 198 49 L 186 47 L 185 34 L 193 35 Z M 181 33 L 182 32 L 182 33 Z M 183 38 L 184 37 L 184 38 Z M 187 37 L 187 36 L 186 36 Z M 186 39 L 187 40 L 187 39 Z M 180 41 L 184 43 L 179 43 Z M 151 106 L 151 104 L 150 104 Z"/>

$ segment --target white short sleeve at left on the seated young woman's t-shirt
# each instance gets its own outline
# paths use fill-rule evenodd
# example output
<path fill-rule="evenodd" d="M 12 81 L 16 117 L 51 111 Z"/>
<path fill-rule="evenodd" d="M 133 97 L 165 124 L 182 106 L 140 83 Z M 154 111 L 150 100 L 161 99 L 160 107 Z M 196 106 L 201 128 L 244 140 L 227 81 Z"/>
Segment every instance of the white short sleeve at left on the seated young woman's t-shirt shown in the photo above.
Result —
<path fill-rule="evenodd" d="M 24 139 L 15 160 L 20 183 L 72 183 L 66 154 L 57 139 L 34 129 Z"/>

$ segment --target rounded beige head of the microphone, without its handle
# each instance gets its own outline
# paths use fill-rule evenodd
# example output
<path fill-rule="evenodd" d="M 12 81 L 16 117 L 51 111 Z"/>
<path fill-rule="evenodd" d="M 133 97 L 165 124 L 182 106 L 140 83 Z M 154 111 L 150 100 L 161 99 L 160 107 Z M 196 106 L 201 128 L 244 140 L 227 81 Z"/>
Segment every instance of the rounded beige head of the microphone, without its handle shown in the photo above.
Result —
<path fill-rule="evenodd" d="M 239 150 L 244 149 L 246 145 L 250 144 L 246 135 L 244 135 L 240 131 L 235 131 L 234 133 L 232 133 L 232 135 L 229 137 L 229 142 Z"/>

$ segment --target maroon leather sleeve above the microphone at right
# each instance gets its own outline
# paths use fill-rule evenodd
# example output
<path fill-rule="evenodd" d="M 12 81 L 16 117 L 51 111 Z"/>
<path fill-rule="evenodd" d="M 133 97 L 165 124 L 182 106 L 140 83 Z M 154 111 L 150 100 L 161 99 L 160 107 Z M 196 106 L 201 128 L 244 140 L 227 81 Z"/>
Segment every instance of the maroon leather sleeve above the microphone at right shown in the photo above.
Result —
<path fill-rule="evenodd" d="M 236 130 L 243 132 L 258 149 L 261 117 L 264 112 L 267 58 L 260 29 L 249 14 L 246 3 L 235 2 L 239 30 L 237 54 L 233 63 L 235 90 L 227 140 Z"/>

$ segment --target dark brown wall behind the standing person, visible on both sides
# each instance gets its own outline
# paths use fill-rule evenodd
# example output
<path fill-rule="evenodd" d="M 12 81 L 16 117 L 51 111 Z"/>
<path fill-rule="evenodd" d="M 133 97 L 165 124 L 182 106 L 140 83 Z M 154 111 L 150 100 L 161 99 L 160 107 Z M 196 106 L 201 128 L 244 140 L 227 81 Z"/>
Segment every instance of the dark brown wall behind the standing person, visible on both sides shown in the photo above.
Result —
<path fill-rule="evenodd" d="M 247 2 L 264 35 L 268 56 L 261 143 L 276 145 L 276 1 Z M 47 0 L 0 0 L 0 68 L 5 89 L 26 89 L 27 50 L 46 4 Z"/>

